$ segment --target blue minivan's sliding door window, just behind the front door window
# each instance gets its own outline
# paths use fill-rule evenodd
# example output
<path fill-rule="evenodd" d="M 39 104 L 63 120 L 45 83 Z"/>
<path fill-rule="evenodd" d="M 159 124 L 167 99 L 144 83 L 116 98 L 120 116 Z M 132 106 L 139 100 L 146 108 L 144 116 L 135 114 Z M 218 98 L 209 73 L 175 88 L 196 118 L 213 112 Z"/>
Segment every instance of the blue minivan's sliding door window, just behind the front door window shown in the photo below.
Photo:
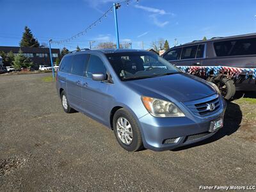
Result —
<path fill-rule="evenodd" d="M 77 76 L 84 76 L 84 70 L 86 68 L 86 61 L 88 54 L 76 54 L 73 56 L 72 61 L 72 74 Z"/>

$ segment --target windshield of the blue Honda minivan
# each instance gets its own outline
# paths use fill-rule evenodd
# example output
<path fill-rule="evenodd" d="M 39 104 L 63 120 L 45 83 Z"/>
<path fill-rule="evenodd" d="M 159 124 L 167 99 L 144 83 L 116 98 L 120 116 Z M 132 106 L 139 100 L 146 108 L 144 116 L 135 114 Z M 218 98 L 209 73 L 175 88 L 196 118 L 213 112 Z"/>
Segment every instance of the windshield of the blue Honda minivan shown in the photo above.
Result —
<path fill-rule="evenodd" d="M 122 81 L 180 73 L 178 68 L 152 52 L 119 52 L 106 56 Z"/>

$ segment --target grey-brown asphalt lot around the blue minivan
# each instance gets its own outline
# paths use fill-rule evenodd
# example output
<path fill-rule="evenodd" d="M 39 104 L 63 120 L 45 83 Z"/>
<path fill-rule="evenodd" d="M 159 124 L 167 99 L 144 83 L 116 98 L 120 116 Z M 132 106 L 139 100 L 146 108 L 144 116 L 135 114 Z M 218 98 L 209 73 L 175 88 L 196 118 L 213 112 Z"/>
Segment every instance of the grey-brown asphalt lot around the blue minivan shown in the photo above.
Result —
<path fill-rule="evenodd" d="M 126 152 L 110 129 L 61 108 L 49 74 L 0 76 L 0 191 L 198 191 L 255 185 L 256 141 L 243 137 L 243 112 L 174 151 Z M 242 123 L 241 123 L 242 121 Z M 242 126 L 240 126 L 240 124 Z M 250 129 L 255 136 L 255 127 Z"/>

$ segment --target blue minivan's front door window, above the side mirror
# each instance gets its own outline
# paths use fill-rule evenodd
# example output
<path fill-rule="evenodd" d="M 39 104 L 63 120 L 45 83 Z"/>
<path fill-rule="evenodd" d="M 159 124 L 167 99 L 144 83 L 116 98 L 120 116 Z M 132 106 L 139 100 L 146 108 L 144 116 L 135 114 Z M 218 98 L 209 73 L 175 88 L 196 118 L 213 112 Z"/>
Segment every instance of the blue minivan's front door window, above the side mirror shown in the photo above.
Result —
<path fill-rule="evenodd" d="M 93 73 L 102 72 L 106 74 L 107 69 L 102 60 L 98 56 L 92 55 L 88 61 L 88 67 L 86 69 L 86 77 L 92 78 Z"/>

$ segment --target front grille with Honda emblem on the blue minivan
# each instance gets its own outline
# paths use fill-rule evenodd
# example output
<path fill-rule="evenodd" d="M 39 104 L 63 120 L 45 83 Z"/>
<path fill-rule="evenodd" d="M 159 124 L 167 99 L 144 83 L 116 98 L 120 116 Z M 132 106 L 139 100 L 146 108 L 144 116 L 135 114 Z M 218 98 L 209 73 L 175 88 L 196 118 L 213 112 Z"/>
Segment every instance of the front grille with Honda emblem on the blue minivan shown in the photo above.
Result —
<path fill-rule="evenodd" d="M 214 108 L 211 108 L 210 105 L 214 105 Z M 189 103 L 186 106 L 193 112 L 195 115 L 207 116 L 215 113 L 221 108 L 220 97 L 214 95 L 206 99 L 200 99 L 197 102 L 194 101 L 193 104 Z"/>

